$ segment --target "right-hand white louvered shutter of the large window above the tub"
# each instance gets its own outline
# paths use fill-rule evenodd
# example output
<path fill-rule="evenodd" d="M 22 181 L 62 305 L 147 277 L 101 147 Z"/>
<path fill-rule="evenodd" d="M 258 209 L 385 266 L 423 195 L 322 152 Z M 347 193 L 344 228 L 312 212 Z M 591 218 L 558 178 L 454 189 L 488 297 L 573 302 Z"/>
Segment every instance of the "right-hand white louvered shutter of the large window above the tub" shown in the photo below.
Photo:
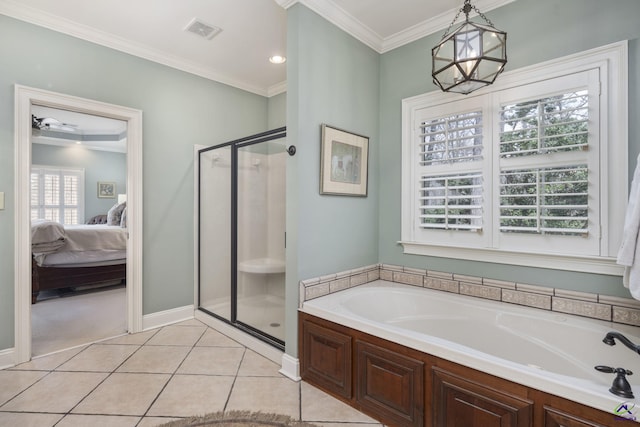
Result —
<path fill-rule="evenodd" d="M 501 166 L 500 231 L 587 234 L 588 90 L 504 104 L 499 128 L 501 165 L 521 158 L 536 166 Z"/>

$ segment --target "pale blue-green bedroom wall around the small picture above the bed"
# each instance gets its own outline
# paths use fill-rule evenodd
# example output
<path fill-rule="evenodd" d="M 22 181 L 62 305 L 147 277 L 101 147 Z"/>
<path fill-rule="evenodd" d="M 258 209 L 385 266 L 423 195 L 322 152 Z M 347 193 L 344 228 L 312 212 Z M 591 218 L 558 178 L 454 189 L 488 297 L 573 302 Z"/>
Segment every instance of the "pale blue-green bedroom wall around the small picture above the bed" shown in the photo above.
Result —
<path fill-rule="evenodd" d="M 84 169 L 84 220 L 106 214 L 117 199 L 98 198 L 98 181 L 116 183 L 116 193 L 127 192 L 127 155 L 89 150 L 81 146 L 67 147 L 31 144 L 31 163 Z"/>

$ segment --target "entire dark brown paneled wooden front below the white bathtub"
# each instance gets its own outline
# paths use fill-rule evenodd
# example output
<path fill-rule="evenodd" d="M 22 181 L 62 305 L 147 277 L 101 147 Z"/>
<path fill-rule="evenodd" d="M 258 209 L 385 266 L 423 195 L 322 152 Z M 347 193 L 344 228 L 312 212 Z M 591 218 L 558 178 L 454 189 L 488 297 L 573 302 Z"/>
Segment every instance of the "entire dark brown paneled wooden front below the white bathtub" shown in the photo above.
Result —
<path fill-rule="evenodd" d="M 388 426 L 636 425 L 304 312 L 299 346 L 304 381 Z"/>

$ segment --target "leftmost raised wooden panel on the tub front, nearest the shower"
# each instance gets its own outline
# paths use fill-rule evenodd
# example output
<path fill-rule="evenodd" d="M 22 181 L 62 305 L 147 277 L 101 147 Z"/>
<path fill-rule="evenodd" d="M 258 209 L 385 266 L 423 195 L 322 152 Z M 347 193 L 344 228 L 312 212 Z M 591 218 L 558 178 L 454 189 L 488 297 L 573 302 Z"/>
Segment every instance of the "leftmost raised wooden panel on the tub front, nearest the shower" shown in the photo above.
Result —
<path fill-rule="evenodd" d="M 302 379 L 351 399 L 351 337 L 302 322 Z"/>

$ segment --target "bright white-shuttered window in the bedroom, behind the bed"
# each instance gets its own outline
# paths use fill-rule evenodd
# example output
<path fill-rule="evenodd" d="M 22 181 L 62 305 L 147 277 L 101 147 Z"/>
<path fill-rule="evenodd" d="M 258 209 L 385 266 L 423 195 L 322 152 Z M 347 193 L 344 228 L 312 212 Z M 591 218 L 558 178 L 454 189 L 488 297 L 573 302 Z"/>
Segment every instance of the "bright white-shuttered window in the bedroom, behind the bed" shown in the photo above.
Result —
<path fill-rule="evenodd" d="M 82 223 L 84 170 L 33 166 L 31 219 L 48 219 L 67 225 Z"/>

